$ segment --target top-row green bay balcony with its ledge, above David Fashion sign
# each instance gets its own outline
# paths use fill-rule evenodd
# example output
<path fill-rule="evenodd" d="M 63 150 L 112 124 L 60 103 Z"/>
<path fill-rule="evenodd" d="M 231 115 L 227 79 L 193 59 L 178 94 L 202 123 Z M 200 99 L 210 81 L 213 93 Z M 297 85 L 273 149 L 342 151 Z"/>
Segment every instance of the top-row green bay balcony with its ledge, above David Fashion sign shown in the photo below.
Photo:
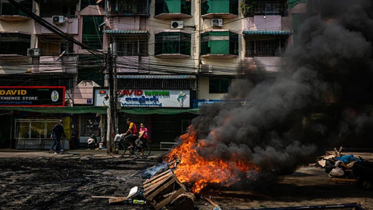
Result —
<path fill-rule="evenodd" d="M 156 0 L 154 18 L 191 18 L 191 0 Z"/>

